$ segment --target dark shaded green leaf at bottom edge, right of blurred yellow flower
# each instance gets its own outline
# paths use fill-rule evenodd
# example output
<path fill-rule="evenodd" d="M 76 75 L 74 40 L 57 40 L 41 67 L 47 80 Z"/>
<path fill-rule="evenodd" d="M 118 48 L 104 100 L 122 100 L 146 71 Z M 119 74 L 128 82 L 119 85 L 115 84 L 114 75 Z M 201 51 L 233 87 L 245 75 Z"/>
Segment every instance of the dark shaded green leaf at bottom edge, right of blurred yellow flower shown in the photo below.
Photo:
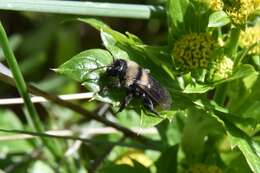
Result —
<path fill-rule="evenodd" d="M 161 153 L 160 158 L 155 162 L 158 173 L 177 172 L 178 145 L 171 146 Z"/>

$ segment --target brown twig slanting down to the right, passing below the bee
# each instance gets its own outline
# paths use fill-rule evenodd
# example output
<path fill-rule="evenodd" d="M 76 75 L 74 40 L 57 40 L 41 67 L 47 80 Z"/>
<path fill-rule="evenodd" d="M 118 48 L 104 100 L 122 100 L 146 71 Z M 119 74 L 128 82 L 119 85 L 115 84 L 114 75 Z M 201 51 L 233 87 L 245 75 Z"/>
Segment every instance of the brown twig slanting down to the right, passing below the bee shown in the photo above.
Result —
<path fill-rule="evenodd" d="M 9 76 L 6 76 L 2 73 L 0 73 L 0 80 L 5 82 L 5 83 L 8 83 L 12 86 L 15 86 L 14 84 L 14 80 L 9 77 Z M 87 116 L 89 119 L 93 119 L 93 120 L 96 120 L 96 121 L 99 121 L 107 126 L 110 126 L 110 127 L 113 127 L 119 131 L 121 131 L 125 136 L 127 137 L 130 137 L 136 141 L 139 141 L 145 145 L 148 145 L 150 147 L 154 147 L 154 149 L 161 149 L 163 146 L 161 145 L 156 145 L 156 141 L 154 140 L 151 140 L 149 138 L 146 138 L 142 135 L 138 135 L 137 133 L 133 132 L 132 130 L 129 130 L 128 128 L 125 128 L 119 124 L 116 124 L 112 121 L 109 121 L 107 119 L 105 119 L 104 117 L 100 117 L 100 116 L 97 116 L 96 114 L 92 113 L 92 112 L 89 112 L 87 110 L 85 110 L 84 108 L 76 105 L 76 104 L 73 104 L 69 101 L 64 101 L 64 100 L 61 100 L 59 97 L 55 96 L 55 95 L 51 95 L 49 93 L 46 93 L 45 91 L 42 91 L 36 87 L 34 87 L 33 85 L 28 85 L 28 89 L 29 89 L 29 92 L 31 92 L 32 94 L 34 95 L 38 95 L 38 96 L 42 96 L 48 100 L 51 100 L 52 102 L 58 104 L 58 105 L 61 105 L 61 106 L 64 106 L 66 108 L 69 108 L 83 116 Z"/>

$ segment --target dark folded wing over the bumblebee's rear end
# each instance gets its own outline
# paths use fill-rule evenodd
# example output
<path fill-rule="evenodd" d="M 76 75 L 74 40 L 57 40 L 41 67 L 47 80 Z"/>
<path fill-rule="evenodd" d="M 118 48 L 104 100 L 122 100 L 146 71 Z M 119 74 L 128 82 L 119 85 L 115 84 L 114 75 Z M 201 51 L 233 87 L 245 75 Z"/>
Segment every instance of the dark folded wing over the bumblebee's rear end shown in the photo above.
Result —
<path fill-rule="evenodd" d="M 140 82 L 137 83 L 140 89 L 145 92 L 160 108 L 169 109 L 172 104 L 172 98 L 168 90 L 161 86 L 161 84 L 150 75 L 148 80 L 148 85 L 144 85 Z"/>

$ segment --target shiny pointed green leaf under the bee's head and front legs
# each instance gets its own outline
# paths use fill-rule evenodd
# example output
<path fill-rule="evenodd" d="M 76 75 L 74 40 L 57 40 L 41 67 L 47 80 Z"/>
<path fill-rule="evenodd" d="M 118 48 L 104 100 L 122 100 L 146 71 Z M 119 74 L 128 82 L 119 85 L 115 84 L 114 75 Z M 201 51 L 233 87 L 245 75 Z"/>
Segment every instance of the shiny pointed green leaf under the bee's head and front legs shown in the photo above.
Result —
<path fill-rule="evenodd" d="M 75 55 L 56 71 L 79 81 L 89 91 L 95 92 L 96 95 L 93 99 L 116 105 L 118 104 L 118 95 L 122 92 L 115 87 L 108 87 L 113 85 L 113 81 L 105 76 L 105 66 L 112 61 L 113 58 L 108 51 L 90 49 Z M 102 91 L 101 87 L 104 87 Z"/>

